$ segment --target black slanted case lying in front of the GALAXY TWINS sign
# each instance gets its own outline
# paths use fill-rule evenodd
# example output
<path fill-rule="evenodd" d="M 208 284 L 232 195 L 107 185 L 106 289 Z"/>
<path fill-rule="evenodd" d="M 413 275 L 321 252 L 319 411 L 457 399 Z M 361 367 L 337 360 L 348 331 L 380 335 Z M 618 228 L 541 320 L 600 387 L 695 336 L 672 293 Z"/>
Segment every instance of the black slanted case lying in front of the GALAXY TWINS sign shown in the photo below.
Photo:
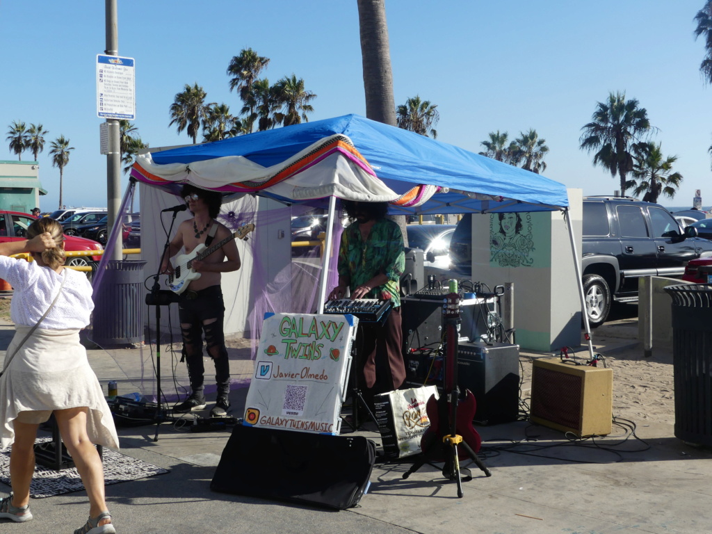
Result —
<path fill-rule="evenodd" d="M 366 493 L 375 459 L 364 436 L 238 425 L 210 489 L 343 510 Z"/>

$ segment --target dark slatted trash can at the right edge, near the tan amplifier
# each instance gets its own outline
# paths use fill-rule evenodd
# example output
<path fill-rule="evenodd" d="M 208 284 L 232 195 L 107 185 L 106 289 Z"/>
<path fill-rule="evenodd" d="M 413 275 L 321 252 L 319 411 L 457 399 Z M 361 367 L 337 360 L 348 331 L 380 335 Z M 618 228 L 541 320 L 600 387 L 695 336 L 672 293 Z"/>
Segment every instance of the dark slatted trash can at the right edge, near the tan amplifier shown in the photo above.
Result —
<path fill-rule="evenodd" d="M 712 286 L 668 286 L 672 297 L 675 436 L 712 446 Z"/>

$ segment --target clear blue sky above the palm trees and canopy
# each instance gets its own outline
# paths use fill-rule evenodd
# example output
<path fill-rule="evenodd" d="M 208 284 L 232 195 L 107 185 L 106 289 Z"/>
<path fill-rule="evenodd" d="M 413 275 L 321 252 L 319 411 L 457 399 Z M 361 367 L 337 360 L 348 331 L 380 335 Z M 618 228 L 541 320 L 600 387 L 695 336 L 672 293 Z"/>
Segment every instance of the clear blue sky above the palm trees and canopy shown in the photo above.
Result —
<path fill-rule="evenodd" d="M 665 205 L 691 204 L 695 189 L 712 204 L 712 89 L 699 65 L 703 43 L 693 17 L 704 0 L 387 0 L 396 104 L 414 95 L 438 105 L 438 139 L 473 152 L 488 132 L 535 128 L 550 152 L 545 176 L 584 194 L 612 194 L 617 179 L 579 150 L 580 128 L 609 91 L 648 110 L 665 155 L 684 176 Z M 294 73 L 318 95 L 310 120 L 365 115 L 356 0 L 118 0 L 119 55 L 136 60 L 140 136 L 152 147 L 191 142 L 169 127 L 169 105 L 186 83 L 236 113 L 225 70 L 243 48 L 271 58 L 273 83 Z M 59 172 L 49 141 L 75 147 L 65 169 L 68 206 L 106 205 L 99 154 L 96 54 L 105 49 L 101 0 L 0 3 L 0 159 L 13 120 L 49 130 L 40 157 L 48 195 L 58 204 Z M 31 159 L 30 152 L 23 160 Z M 127 179 L 124 178 L 124 182 Z M 125 186 L 124 186 L 125 187 Z"/>

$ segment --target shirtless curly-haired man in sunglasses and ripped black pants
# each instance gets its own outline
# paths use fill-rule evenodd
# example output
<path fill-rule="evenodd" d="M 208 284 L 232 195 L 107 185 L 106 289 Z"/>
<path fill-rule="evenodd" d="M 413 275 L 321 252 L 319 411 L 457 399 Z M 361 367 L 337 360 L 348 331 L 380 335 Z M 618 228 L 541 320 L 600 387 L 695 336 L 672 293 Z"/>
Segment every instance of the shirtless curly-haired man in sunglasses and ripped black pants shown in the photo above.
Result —
<path fill-rule="evenodd" d="M 162 273 L 173 273 L 169 261 L 182 249 L 191 253 L 199 244 L 209 246 L 231 236 L 223 224 L 216 221 L 220 213 L 222 195 L 218 192 L 184 185 L 181 196 L 193 214 L 183 221 L 172 239 L 166 257 L 161 263 Z M 203 336 L 207 354 L 215 366 L 217 399 L 211 417 L 225 417 L 230 409 L 230 365 L 225 347 L 223 320 L 225 306 L 220 288 L 221 273 L 240 268 L 240 254 L 234 240 L 227 241 L 218 250 L 201 261 L 193 260 L 192 268 L 201 276 L 190 281 L 179 296 L 179 320 L 183 337 L 183 357 L 188 365 L 191 394 L 173 407 L 174 412 L 186 413 L 206 407 L 204 394 Z"/>

